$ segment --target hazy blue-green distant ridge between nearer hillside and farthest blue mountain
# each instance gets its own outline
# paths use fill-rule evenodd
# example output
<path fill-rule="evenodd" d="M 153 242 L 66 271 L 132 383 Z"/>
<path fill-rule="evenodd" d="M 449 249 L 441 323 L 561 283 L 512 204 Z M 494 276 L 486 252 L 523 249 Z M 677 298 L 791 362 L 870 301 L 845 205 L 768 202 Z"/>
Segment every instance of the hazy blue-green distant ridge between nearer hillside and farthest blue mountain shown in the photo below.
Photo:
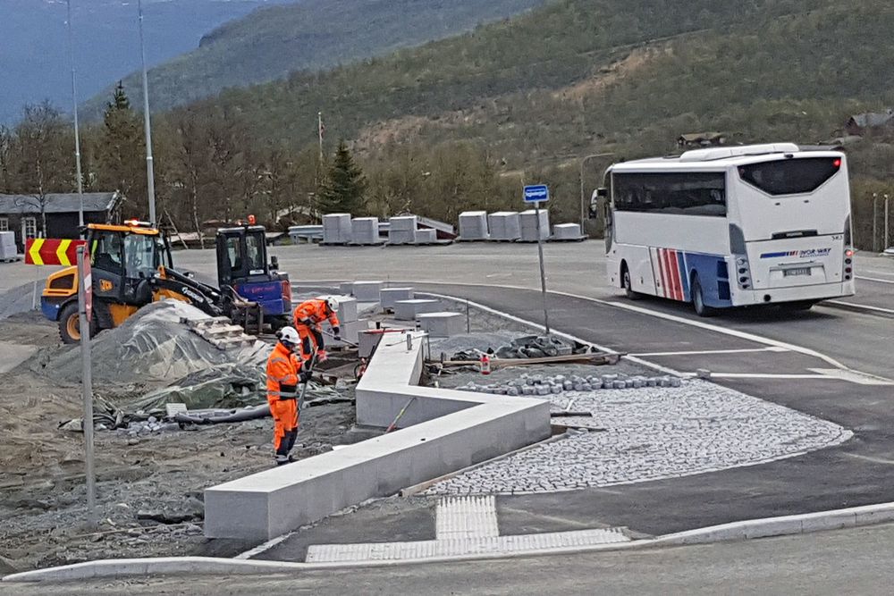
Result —
<path fill-rule="evenodd" d="M 211 31 L 194 51 L 152 69 L 152 109 L 279 79 L 291 71 L 384 55 L 538 4 L 544 0 L 301 0 L 260 9 Z M 131 95 L 139 92 L 139 84 L 137 73 L 124 80 Z M 91 113 L 98 113 L 105 96 L 89 102 Z"/>

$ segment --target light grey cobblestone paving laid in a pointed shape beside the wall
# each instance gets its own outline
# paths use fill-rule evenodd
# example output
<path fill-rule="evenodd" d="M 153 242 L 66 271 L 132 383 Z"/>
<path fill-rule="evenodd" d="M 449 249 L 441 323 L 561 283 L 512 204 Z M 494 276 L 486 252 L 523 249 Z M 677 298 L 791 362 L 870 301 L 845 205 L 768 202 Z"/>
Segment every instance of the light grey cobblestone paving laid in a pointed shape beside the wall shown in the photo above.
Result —
<path fill-rule="evenodd" d="M 586 429 L 434 484 L 426 494 L 529 494 L 753 466 L 847 441 L 838 424 L 710 382 L 544 396 Z"/>

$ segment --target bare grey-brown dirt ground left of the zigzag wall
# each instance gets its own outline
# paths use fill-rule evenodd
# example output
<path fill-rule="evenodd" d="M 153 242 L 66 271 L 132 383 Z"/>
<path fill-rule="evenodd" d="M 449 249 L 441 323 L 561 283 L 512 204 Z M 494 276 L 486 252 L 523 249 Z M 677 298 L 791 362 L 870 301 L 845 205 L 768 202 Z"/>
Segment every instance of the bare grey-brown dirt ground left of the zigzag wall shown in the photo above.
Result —
<path fill-rule="evenodd" d="M 0 323 L 0 349 L 16 345 L 38 352 L 0 374 L 0 575 L 96 558 L 219 550 L 202 534 L 202 491 L 273 466 L 272 419 L 139 437 L 97 431 L 99 522 L 90 526 L 83 435 L 58 428 L 81 416 L 80 379 L 33 366 L 78 348 L 60 346 L 55 323 L 37 313 Z M 95 390 L 133 390 L 127 381 Z M 293 454 L 309 457 L 366 438 L 353 422 L 352 403 L 308 408 Z"/>

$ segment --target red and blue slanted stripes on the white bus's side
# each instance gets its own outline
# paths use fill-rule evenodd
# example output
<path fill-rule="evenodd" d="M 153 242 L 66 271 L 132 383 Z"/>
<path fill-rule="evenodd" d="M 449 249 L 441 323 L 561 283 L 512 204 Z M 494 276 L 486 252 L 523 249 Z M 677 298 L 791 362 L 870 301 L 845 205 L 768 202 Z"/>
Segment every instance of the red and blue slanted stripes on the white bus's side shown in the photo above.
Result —
<path fill-rule="evenodd" d="M 726 259 L 720 255 L 687 253 L 673 248 L 650 248 L 655 290 L 658 296 L 689 302 L 690 281 L 698 275 L 704 304 L 713 307 L 732 306 L 730 273 Z"/>

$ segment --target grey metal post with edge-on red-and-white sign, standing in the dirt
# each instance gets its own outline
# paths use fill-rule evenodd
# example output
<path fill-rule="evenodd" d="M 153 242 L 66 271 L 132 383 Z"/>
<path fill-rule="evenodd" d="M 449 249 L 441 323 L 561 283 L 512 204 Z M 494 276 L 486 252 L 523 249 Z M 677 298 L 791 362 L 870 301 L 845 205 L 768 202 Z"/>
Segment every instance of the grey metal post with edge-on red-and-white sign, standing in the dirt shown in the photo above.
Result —
<path fill-rule="evenodd" d="M 97 519 L 97 484 L 93 470 L 93 377 L 90 366 L 90 320 L 93 318 L 93 276 L 86 245 L 78 247 L 78 312 L 80 326 L 80 356 L 83 364 L 81 385 L 84 394 L 84 460 L 87 465 L 87 518 L 90 524 Z"/>

